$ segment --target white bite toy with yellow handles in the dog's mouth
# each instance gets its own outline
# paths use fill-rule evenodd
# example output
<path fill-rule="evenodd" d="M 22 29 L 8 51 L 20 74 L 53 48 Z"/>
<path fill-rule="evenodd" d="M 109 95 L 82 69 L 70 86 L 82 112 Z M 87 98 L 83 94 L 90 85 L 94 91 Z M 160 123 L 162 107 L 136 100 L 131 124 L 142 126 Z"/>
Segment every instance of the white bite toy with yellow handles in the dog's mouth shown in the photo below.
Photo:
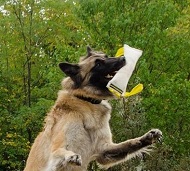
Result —
<path fill-rule="evenodd" d="M 138 59 L 142 55 L 142 51 L 124 44 L 124 47 L 117 51 L 116 57 L 123 55 L 126 60 L 126 65 L 123 66 L 107 84 L 109 91 L 118 98 L 129 97 L 143 90 L 143 84 L 138 84 L 130 92 L 126 92 L 128 81 L 135 69 Z"/>

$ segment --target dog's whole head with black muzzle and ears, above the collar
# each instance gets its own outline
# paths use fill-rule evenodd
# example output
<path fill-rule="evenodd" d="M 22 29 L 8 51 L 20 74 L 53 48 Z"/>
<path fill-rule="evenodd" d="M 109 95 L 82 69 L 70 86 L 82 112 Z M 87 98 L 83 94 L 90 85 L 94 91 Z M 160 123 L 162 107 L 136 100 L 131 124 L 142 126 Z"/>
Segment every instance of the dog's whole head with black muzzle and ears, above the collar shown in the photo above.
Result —
<path fill-rule="evenodd" d="M 87 47 L 87 56 L 82 57 L 78 64 L 60 63 L 59 67 L 68 76 L 63 80 L 65 89 L 82 92 L 87 97 L 107 99 L 113 95 L 106 85 L 124 65 L 124 57 L 108 57 Z"/>

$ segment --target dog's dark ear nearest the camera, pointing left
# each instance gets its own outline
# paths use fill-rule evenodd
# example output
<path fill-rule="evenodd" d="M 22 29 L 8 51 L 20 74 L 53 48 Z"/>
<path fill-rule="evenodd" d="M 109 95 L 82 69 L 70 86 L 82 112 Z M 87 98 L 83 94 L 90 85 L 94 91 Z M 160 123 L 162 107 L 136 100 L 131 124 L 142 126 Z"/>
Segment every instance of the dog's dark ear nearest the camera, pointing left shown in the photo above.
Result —
<path fill-rule="evenodd" d="M 80 87 L 82 83 L 82 76 L 80 74 L 80 67 L 77 64 L 70 64 L 67 62 L 59 64 L 60 69 L 75 83 L 75 88 Z"/>

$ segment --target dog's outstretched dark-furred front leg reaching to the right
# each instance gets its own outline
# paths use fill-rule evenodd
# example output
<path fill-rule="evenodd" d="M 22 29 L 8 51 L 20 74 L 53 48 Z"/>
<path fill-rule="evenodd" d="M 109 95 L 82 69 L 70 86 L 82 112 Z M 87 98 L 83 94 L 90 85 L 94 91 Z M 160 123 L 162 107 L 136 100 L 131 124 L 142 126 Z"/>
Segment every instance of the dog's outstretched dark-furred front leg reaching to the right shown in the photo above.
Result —
<path fill-rule="evenodd" d="M 108 145 L 107 149 L 97 157 L 97 162 L 105 167 L 110 167 L 135 156 L 140 156 L 149 151 L 148 146 L 161 140 L 162 132 L 152 129 L 141 137 L 130 139 L 120 144 Z"/>

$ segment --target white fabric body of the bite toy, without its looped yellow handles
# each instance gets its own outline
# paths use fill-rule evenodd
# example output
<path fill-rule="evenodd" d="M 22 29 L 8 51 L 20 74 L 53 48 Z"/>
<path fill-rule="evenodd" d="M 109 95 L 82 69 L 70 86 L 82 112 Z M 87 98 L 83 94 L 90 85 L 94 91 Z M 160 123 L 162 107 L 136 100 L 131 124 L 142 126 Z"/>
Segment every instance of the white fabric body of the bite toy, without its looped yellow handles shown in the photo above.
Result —
<path fill-rule="evenodd" d="M 141 50 L 132 48 L 126 44 L 124 45 L 126 65 L 122 67 L 107 84 L 107 88 L 117 97 L 125 95 L 128 81 L 141 55 Z"/>

